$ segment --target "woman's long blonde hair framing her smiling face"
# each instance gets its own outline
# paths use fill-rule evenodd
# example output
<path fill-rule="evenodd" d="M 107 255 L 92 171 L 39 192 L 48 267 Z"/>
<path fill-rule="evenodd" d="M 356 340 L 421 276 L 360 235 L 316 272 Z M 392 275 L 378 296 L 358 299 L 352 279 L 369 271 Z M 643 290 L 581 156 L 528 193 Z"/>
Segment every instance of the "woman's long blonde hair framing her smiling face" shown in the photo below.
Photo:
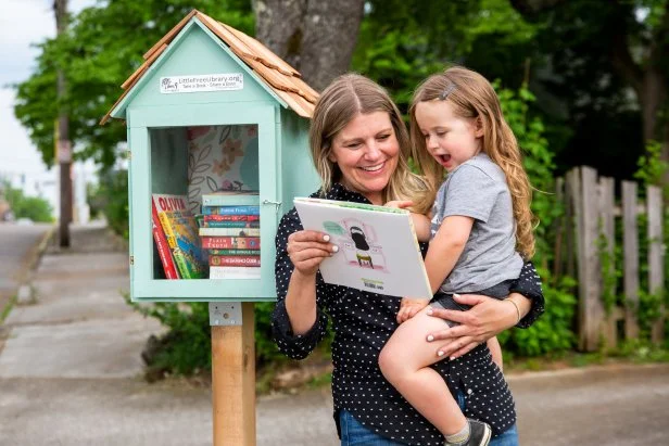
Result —
<path fill-rule="evenodd" d="M 426 199 L 428 186 L 422 177 L 411 171 L 408 132 L 397 106 L 388 92 L 371 79 L 358 74 L 336 78 L 320 94 L 310 128 L 312 158 L 320 176 L 321 194 L 341 181 L 341 170 L 329 160 L 332 140 L 357 114 L 386 112 L 400 144 L 397 167 L 383 191 L 383 201 L 411 200 L 412 211 L 425 214 L 431 207 Z"/>

